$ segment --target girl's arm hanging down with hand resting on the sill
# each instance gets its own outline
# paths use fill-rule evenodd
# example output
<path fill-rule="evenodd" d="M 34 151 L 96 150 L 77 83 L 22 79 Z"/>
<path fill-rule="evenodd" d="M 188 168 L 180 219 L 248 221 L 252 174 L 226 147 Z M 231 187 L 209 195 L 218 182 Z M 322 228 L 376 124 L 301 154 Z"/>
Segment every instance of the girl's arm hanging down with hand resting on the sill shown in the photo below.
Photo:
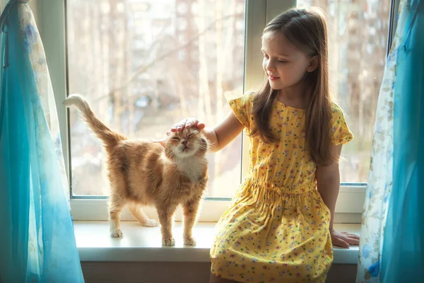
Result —
<path fill-rule="evenodd" d="M 333 146 L 333 152 L 334 156 L 338 160 L 341 154 L 341 144 L 338 146 Z M 349 245 L 358 245 L 358 236 L 349 233 L 339 233 L 333 229 L 334 209 L 336 208 L 338 190 L 340 188 L 340 171 L 338 168 L 338 163 L 334 162 L 329 166 L 317 167 L 317 187 L 322 200 L 324 200 L 324 203 L 331 211 L 329 229 L 333 245 L 343 248 L 349 248 Z"/>

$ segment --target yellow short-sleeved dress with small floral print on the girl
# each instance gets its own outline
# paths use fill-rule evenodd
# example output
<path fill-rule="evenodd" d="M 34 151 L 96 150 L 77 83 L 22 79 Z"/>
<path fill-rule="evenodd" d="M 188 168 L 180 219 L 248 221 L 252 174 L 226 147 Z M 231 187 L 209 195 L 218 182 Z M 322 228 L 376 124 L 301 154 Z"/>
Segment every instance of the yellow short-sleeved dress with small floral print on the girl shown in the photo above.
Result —
<path fill-rule="evenodd" d="M 252 99 L 230 100 L 248 133 Z M 324 282 L 333 260 L 331 215 L 317 191 L 305 112 L 276 101 L 271 127 L 278 144 L 250 139 L 249 174 L 216 226 L 211 272 L 237 282 Z M 353 139 L 336 105 L 331 133 L 336 145 Z"/>

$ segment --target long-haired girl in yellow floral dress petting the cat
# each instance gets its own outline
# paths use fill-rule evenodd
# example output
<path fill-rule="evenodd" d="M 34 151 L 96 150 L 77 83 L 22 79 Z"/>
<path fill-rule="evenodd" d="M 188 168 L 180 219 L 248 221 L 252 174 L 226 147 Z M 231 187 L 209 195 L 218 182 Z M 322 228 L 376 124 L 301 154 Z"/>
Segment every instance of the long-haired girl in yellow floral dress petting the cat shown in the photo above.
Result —
<path fill-rule="evenodd" d="M 188 119 L 171 129 L 202 129 L 213 151 L 249 134 L 249 175 L 218 221 L 210 282 L 324 282 L 331 243 L 358 244 L 333 229 L 338 158 L 353 135 L 331 102 L 326 33 L 317 8 L 277 16 L 262 35 L 261 90 L 230 100 L 214 128 Z"/>

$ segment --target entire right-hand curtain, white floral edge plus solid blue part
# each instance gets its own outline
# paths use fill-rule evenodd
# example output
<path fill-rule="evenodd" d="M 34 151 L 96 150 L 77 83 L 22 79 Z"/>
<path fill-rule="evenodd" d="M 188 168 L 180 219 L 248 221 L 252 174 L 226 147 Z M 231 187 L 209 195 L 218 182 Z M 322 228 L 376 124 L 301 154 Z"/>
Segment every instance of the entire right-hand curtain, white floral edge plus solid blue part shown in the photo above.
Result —
<path fill-rule="evenodd" d="M 424 1 L 401 0 L 379 93 L 356 282 L 424 280 Z"/>

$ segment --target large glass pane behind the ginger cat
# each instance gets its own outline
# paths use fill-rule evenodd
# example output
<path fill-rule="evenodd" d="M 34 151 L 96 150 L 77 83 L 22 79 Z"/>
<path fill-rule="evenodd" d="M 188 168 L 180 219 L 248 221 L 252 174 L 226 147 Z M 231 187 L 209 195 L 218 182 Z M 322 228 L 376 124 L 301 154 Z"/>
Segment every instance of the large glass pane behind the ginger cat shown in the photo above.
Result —
<path fill-rule="evenodd" d="M 69 93 L 129 138 L 158 139 L 185 117 L 213 126 L 242 95 L 244 0 L 67 1 Z M 108 195 L 105 151 L 71 110 L 73 195 Z M 241 138 L 208 156 L 206 196 L 240 185 Z"/>

